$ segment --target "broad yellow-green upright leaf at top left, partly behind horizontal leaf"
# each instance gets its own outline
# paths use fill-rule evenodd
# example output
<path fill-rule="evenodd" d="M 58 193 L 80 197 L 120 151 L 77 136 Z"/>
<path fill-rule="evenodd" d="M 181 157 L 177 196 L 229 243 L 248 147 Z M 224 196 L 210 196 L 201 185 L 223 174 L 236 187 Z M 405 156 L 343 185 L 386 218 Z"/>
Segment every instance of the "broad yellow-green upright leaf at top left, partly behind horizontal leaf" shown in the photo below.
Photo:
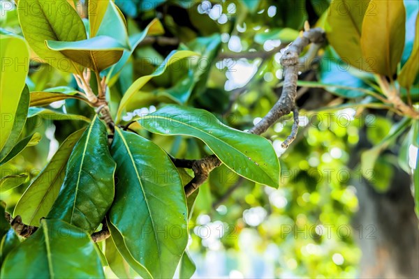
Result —
<path fill-rule="evenodd" d="M 66 11 L 65 16 L 62 10 Z M 22 0 L 18 2 L 17 13 L 24 38 L 41 59 L 64 72 L 80 73 L 80 65 L 45 45 L 45 40 L 73 42 L 87 38 L 84 24 L 70 3 Z"/>

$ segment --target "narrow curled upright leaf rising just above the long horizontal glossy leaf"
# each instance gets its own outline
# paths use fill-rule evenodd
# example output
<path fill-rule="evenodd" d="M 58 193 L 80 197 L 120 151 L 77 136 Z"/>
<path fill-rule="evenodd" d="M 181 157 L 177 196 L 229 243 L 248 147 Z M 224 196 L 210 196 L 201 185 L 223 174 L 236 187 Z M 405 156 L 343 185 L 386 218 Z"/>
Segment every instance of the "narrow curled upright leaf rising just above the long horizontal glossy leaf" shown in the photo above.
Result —
<path fill-rule="evenodd" d="M 149 80 L 151 80 L 153 77 L 161 75 L 170 64 L 179 61 L 179 59 L 184 59 L 189 56 L 196 56 L 196 52 L 191 52 L 189 50 L 180 50 L 180 51 L 172 51 L 166 57 L 164 63 L 157 68 L 154 73 L 151 75 L 145 75 L 143 77 L 140 77 L 138 80 L 135 80 L 131 86 L 129 86 L 128 90 L 125 92 L 124 97 L 122 97 L 121 103 L 119 103 L 119 108 L 117 112 L 117 119 L 115 120 L 115 123 L 119 123 L 122 118 L 122 114 L 126 112 L 127 110 L 134 109 L 135 110 L 135 100 L 141 99 L 141 94 L 139 93 L 142 89 L 142 86 L 145 86 Z"/>

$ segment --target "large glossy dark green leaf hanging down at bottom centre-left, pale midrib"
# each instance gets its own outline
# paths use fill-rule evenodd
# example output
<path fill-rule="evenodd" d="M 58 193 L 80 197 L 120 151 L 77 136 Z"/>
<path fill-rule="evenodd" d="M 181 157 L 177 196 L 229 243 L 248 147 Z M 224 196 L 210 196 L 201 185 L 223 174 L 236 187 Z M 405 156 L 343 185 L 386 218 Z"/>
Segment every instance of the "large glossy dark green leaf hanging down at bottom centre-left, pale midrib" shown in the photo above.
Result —
<path fill-rule="evenodd" d="M 154 278 L 172 278 L 188 241 L 179 173 L 166 152 L 134 133 L 116 128 L 110 150 L 118 180 L 110 223 Z"/>

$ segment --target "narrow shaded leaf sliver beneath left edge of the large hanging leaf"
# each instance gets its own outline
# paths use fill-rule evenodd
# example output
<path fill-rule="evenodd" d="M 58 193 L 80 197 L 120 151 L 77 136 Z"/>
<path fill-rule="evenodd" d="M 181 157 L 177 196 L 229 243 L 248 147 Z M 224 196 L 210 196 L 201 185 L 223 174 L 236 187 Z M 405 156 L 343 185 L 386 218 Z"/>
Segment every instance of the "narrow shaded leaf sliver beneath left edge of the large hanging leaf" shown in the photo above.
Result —
<path fill-rule="evenodd" d="M 149 271 L 147 271 L 145 266 L 142 266 L 140 262 L 138 262 L 137 260 L 133 258 L 133 255 L 131 255 L 131 252 L 128 250 L 128 248 L 126 248 L 126 241 L 124 241 L 124 238 L 121 235 L 121 233 L 118 231 L 118 229 L 114 225 L 112 225 L 112 223 L 110 222 L 108 222 L 108 227 L 111 234 L 110 239 L 112 240 L 113 245 L 117 248 L 119 254 L 123 257 L 123 260 L 126 261 L 129 267 L 131 267 L 131 269 L 133 269 L 133 271 L 138 273 L 142 278 L 153 278 L 152 275 L 149 273 Z M 114 271 L 115 268 L 116 268 L 115 265 L 113 266 L 113 269 L 111 267 L 112 271 Z"/>

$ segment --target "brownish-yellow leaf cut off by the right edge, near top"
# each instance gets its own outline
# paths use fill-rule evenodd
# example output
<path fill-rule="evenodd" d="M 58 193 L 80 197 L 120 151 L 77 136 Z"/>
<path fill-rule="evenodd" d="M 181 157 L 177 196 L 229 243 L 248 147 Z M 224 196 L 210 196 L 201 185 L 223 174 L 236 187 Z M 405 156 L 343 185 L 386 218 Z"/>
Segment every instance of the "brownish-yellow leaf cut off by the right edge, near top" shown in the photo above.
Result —
<path fill-rule="evenodd" d="M 419 71 L 419 17 L 416 17 L 416 36 L 415 43 L 413 43 L 413 49 L 411 56 L 404 64 L 402 70 L 397 77 L 399 84 L 407 89 L 410 89 L 418 77 Z"/>

